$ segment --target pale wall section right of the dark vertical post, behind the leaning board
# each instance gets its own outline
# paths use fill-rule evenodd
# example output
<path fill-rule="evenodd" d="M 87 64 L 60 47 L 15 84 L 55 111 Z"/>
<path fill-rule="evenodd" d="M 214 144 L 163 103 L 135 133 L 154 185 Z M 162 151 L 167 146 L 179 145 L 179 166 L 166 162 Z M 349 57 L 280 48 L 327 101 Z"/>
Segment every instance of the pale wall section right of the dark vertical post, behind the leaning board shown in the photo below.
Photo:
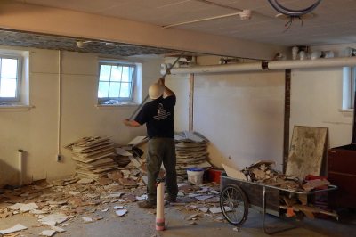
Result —
<path fill-rule="evenodd" d="M 356 45 L 321 45 L 312 51 L 343 57 L 346 46 Z M 292 70 L 290 137 L 295 125 L 328 127 L 329 147 L 351 143 L 352 112 L 341 111 L 342 97 L 342 68 Z"/>

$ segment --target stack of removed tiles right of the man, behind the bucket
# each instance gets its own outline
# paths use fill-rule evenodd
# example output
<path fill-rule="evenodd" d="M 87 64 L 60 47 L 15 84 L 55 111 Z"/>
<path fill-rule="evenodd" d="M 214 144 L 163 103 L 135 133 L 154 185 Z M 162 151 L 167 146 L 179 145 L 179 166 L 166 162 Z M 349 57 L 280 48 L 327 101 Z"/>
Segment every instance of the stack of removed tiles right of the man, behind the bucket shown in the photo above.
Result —
<path fill-rule="evenodd" d="M 196 132 L 181 132 L 174 136 L 177 158 L 177 180 L 187 179 L 187 168 L 211 168 L 207 161 L 207 140 Z"/>

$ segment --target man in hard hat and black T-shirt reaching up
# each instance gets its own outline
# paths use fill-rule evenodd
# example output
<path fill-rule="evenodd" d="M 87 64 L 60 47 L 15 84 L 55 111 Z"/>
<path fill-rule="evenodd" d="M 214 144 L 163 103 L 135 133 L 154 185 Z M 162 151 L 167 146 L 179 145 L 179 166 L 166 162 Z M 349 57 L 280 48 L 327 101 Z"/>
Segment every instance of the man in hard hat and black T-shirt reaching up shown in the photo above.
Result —
<path fill-rule="evenodd" d="M 125 119 L 124 124 L 130 127 L 140 127 L 146 124 L 149 136 L 147 172 L 148 199 L 139 202 L 140 208 L 154 208 L 156 206 L 156 179 L 160 167 L 166 169 L 166 185 L 168 200 L 174 202 L 178 193 L 175 171 L 175 143 L 174 143 L 174 105 L 175 94 L 165 85 L 165 78 L 160 78 L 149 88 L 152 100 L 147 102 L 134 120 Z"/>

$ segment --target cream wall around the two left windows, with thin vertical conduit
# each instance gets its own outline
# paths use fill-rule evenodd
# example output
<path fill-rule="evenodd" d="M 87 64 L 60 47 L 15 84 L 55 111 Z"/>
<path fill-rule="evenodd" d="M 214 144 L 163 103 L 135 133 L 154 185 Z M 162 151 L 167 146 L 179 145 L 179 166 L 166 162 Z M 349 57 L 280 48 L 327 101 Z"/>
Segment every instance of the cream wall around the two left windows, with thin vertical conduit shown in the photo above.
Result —
<path fill-rule="evenodd" d="M 73 174 L 74 163 L 62 147 L 89 135 L 107 135 L 125 144 L 145 127 L 125 127 L 136 107 L 97 108 L 97 56 L 91 53 L 62 53 L 61 153 L 58 153 L 59 55 L 58 51 L 30 49 L 29 101 L 31 110 L 0 109 L 0 186 L 17 184 L 17 151 L 25 152 L 26 182 Z M 142 97 L 159 78 L 161 59 L 142 61 Z"/>

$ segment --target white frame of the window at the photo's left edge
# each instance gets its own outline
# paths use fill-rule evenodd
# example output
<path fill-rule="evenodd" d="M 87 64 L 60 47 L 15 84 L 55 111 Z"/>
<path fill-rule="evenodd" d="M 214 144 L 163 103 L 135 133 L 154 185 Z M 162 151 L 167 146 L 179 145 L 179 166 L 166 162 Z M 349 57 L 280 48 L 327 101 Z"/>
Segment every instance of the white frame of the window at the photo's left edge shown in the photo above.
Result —
<path fill-rule="evenodd" d="M 17 60 L 17 77 L 16 77 L 16 94 L 15 97 L 0 97 L 0 103 L 7 102 L 20 102 L 21 100 L 21 79 L 22 79 L 22 56 L 17 54 L 9 53 L 0 53 L 0 59 L 16 59 Z M 1 64 L 0 64 L 0 73 L 1 73 Z M 0 83 L 1 83 L 1 74 L 0 74 Z M 1 84 L 0 84 L 1 86 Z"/>

